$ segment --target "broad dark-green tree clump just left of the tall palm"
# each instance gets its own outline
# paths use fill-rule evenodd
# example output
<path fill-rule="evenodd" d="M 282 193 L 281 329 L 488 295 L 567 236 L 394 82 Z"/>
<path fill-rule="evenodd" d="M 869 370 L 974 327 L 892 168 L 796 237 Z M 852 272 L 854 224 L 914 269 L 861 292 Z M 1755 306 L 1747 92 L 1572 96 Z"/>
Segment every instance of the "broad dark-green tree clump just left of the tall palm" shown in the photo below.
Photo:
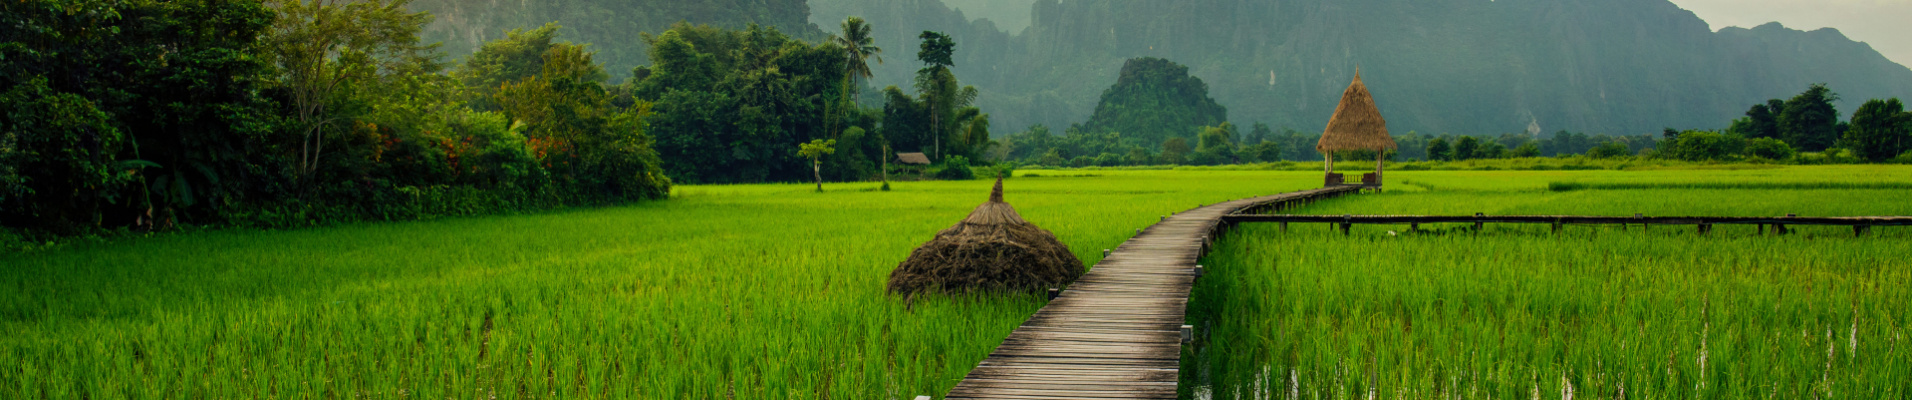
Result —
<path fill-rule="evenodd" d="M 836 136 L 830 121 L 839 113 L 826 111 L 843 96 L 843 48 L 755 25 L 725 31 L 679 23 L 646 38 L 654 65 L 648 75 L 633 71 L 633 94 L 656 101 L 650 132 L 673 178 L 704 184 L 811 178 L 803 176 L 807 161 L 790 147 Z M 883 126 L 889 128 L 887 119 Z M 826 167 L 855 165 L 868 163 Z"/>

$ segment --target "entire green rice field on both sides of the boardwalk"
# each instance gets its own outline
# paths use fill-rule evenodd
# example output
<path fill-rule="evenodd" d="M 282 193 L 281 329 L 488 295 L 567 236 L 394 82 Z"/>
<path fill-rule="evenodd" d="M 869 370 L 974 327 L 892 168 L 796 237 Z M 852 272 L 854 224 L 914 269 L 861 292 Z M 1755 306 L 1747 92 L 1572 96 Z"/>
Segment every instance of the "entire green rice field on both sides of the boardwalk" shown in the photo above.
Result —
<path fill-rule="evenodd" d="M 1358 170 L 1358 167 L 1346 167 Z M 1094 264 L 1283 170 L 1025 170 Z M 1904 167 L 1388 172 L 1308 214 L 1912 214 Z M 883 293 L 990 182 L 681 186 L 547 214 L 0 255 L 0 398 L 941 396 L 1042 297 Z M 1904 398 L 1912 228 L 1243 226 L 1205 260 L 1193 398 Z M 1396 235 L 1388 235 L 1394 230 Z"/>

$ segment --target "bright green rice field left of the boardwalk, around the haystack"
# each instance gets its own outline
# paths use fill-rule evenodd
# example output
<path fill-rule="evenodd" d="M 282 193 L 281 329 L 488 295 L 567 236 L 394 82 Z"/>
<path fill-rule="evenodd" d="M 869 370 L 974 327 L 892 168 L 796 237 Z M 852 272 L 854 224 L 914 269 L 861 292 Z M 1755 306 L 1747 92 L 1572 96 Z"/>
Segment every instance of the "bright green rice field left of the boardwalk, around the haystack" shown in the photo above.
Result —
<path fill-rule="evenodd" d="M 1038 172 L 1008 201 L 1094 264 L 1308 174 Z M 0 398 L 912 398 L 1040 297 L 883 293 L 992 182 L 683 186 L 669 201 L 0 255 Z"/>

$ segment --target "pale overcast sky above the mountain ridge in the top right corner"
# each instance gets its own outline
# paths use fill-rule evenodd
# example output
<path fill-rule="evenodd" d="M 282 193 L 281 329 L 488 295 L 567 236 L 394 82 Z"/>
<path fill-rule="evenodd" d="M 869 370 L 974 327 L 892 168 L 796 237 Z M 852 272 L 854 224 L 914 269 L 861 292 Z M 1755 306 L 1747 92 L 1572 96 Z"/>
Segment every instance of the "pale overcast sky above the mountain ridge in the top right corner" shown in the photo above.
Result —
<path fill-rule="evenodd" d="M 1778 21 L 1790 29 L 1839 29 L 1899 65 L 1912 65 L 1912 0 L 1671 0 L 1713 31 Z"/>

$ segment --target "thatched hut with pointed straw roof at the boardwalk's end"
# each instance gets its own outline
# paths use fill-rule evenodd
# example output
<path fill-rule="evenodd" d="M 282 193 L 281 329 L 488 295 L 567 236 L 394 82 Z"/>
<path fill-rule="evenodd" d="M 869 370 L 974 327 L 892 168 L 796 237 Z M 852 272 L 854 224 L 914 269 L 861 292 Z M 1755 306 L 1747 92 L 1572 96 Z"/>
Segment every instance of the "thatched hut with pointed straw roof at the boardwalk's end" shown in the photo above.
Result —
<path fill-rule="evenodd" d="M 1342 174 L 1335 172 L 1335 151 L 1358 149 L 1375 151 L 1375 172 L 1363 174 L 1361 186 L 1380 188 L 1380 165 L 1396 145 L 1394 136 L 1388 136 L 1388 121 L 1375 107 L 1375 96 L 1367 94 L 1367 84 L 1361 82 L 1359 69 L 1354 71 L 1348 92 L 1340 94 L 1340 105 L 1335 105 L 1327 130 L 1321 130 L 1321 142 L 1315 144 L 1315 151 L 1327 161 L 1327 186 L 1346 186 Z"/>

